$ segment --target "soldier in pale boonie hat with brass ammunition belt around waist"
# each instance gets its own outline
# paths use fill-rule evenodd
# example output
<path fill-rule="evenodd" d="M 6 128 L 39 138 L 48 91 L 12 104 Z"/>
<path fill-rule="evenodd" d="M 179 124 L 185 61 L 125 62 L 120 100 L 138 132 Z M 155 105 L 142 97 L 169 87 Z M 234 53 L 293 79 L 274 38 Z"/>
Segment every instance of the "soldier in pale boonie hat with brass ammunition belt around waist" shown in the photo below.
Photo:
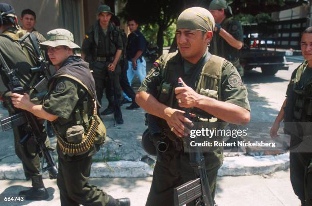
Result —
<path fill-rule="evenodd" d="M 43 104 L 35 106 L 25 100 L 26 103 L 16 101 L 14 106 L 50 121 L 53 126 L 61 205 L 129 206 L 128 198 L 115 199 L 88 183 L 92 156 L 103 144 L 106 128 L 96 115 L 99 102 L 89 64 L 74 55 L 73 49 L 80 47 L 65 29 L 49 31 L 41 46 L 56 67 Z M 14 97 L 23 98 L 23 95 L 14 94 Z"/>

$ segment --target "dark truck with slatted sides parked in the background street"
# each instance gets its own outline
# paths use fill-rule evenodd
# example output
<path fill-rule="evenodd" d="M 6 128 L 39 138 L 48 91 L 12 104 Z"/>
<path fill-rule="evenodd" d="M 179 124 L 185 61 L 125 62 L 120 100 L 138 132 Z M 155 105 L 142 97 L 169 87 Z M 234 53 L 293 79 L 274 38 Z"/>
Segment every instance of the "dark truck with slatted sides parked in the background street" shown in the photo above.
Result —
<path fill-rule="evenodd" d="M 244 70 L 261 67 L 265 75 L 288 70 L 285 58 L 293 50 L 300 50 L 300 34 L 306 27 L 306 18 L 276 21 L 266 24 L 243 25 L 244 47 L 240 62 Z"/>

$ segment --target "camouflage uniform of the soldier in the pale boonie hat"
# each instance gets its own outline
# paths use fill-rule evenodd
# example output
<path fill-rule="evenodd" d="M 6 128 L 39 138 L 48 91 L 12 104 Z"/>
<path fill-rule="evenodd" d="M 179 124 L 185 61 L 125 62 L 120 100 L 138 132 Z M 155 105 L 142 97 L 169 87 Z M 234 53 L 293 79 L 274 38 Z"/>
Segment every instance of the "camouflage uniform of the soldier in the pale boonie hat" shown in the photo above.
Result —
<path fill-rule="evenodd" d="M 87 63 L 79 57 L 70 56 L 63 65 L 49 83 L 49 90 L 43 102 L 43 110 L 58 116 L 52 124 L 55 128 L 55 133 L 64 138 L 66 137 L 66 131 L 71 126 L 83 125 L 85 128 L 88 126 L 94 108 L 94 101 L 86 88 L 79 82 L 59 75 L 60 72 L 67 73 L 66 69 L 69 66 L 72 68 L 72 71 L 75 69 L 77 71 L 89 71 Z M 92 78 L 90 71 L 89 76 L 87 76 L 86 71 L 84 72 L 86 75 L 82 75 L 81 79 Z M 94 80 L 90 82 L 94 84 Z M 83 111 L 87 113 L 88 120 L 82 120 L 83 117 L 77 118 L 76 111 L 79 111 L 79 114 L 83 114 Z M 57 184 L 61 194 L 61 205 L 106 205 L 108 203 L 108 195 L 96 186 L 88 183 L 92 156 L 97 150 L 98 147 L 92 144 L 87 152 L 70 155 L 61 149 L 58 142 L 59 173 Z"/>

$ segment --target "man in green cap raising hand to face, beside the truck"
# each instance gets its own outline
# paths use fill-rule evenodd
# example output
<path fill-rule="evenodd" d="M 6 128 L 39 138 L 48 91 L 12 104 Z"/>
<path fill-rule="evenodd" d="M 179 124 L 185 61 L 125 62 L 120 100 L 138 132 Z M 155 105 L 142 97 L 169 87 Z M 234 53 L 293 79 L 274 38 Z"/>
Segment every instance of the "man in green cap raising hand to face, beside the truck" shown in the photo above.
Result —
<path fill-rule="evenodd" d="M 243 77 L 244 68 L 240 65 L 240 49 L 244 45 L 241 23 L 232 17 L 231 7 L 225 0 L 213 0 L 209 11 L 216 22 L 210 45 L 211 53 L 230 61 Z"/>

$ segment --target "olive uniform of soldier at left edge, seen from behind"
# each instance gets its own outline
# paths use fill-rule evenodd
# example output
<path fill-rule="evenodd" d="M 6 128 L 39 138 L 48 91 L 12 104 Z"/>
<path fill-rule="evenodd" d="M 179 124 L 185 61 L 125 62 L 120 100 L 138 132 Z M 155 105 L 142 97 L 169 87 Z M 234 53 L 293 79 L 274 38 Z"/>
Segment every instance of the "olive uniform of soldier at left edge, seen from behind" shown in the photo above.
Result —
<path fill-rule="evenodd" d="M 20 43 L 17 42 L 23 34 L 25 34 L 25 31 L 15 28 L 4 31 L 3 34 L 0 35 L 0 52 L 10 69 L 18 68 L 17 75 L 20 78 L 21 84 L 27 87 L 31 84 L 34 77 L 34 75 L 30 73 L 30 68 L 35 66 L 35 61 L 28 53 L 25 53 Z M 6 35 L 9 35 L 9 37 Z M 1 76 L 4 84 L 7 85 L 8 79 L 3 71 L 1 71 Z M 7 92 L 4 94 L 4 106 L 8 109 L 9 115 L 11 116 L 18 113 L 18 110 L 11 104 L 10 93 L 11 92 Z M 26 179 L 32 179 L 34 188 L 43 188 L 39 156 L 36 155 L 34 158 L 29 157 L 29 155 L 25 153 L 24 147 L 19 143 L 27 133 L 22 126 L 14 127 L 13 133 L 15 153 L 22 162 Z M 50 142 L 48 138 L 45 139 L 45 144 L 49 147 Z M 31 155 L 35 155 L 38 145 L 33 138 L 27 141 L 27 149 Z"/>

